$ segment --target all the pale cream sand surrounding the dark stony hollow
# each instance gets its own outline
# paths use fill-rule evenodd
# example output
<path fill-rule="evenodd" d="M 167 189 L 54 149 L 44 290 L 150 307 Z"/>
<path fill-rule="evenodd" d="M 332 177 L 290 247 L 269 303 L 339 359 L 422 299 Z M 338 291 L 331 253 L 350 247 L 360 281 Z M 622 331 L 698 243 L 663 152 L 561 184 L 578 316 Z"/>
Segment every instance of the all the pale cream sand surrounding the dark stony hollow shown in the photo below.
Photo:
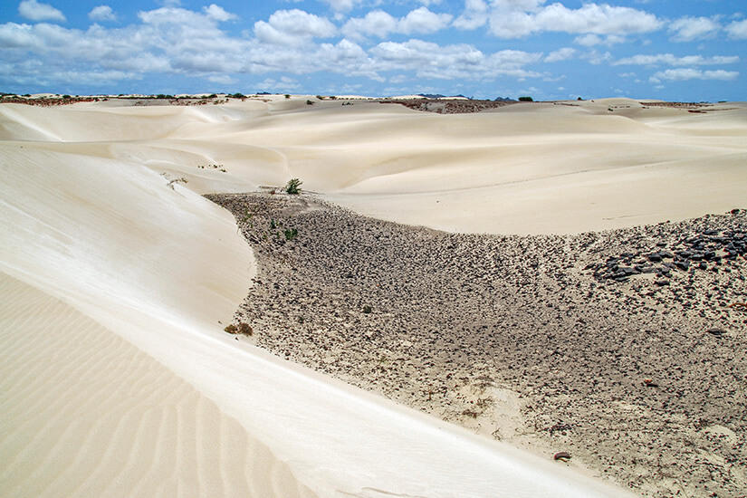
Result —
<path fill-rule="evenodd" d="M 39 368 L 53 357 L 72 376 L 60 378 L 61 397 L 70 400 L 62 407 L 53 401 L 61 388 L 52 381 L 39 384 L 32 374 L 6 381 L 4 388 L 19 395 L 3 397 L 4 414 L 47 415 L 9 418 L 3 426 L 2 455 L 13 455 L 15 465 L 2 474 L 5 489 L 17 495 L 622 493 L 609 480 L 592 479 L 601 470 L 583 458 L 565 464 L 518 451 L 225 334 L 258 269 L 233 217 L 202 195 L 301 177 L 304 188 L 359 213 L 457 233 L 573 234 L 676 221 L 745 204 L 747 107 L 689 112 L 611 100 L 439 115 L 369 101 L 306 100 L 0 105 L 2 287 L 25 296 L 5 305 L 3 356 L 14 358 L 20 349 L 24 364 Z M 27 325 L 34 317 L 26 302 L 49 314 Z M 16 340 L 29 326 L 41 333 Z M 74 333 L 83 334 L 78 350 L 55 356 L 54 340 Z M 91 342 L 101 343 L 105 358 L 128 364 L 121 376 L 107 373 L 107 363 L 76 367 L 79 356 L 94 355 L 85 349 Z M 21 369 L 6 361 L 4 371 Z M 147 402 L 135 394 L 88 401 L 120 392 L 123 378 L 143 386 L 164 379 L 175 392 L 156 389 Z M 503 394 L 511 405 L 510 393 Z M 395 398 L 407 401 L 407 393 Z M 85 402 L 91 420 L 96 410 L 112 418 L 93 428 L 75 425 L 81 412 L 65 407 Z M 158 420 L 151 402 L 169 404 Z M 177 435 L 168 423 L 175 413 L 185 420 Z M 141 428 L 129 430 L 134 426 Z M 153 468 L 171 476 L 163 488 L 153 487 L 139 460 L 156 451 L 142 442 L 144 434 L 159 442 Z M 76 466 L 64 467 L 60 442 L 73 436 L 91 444 L 65 450 L 76 455 Z M 215 444 L 195 443 L 206 440 Z M 219 475 L 200 464 L 213 460 L 210 452 L 232 460 Z M 193 472 L 177 468 L 176 455 L 191 459 L 186 469 Z M 55 469 L 38 488 L 29 487 L 40 475 L 34 464 Z M 122 479 L 103 477 L 109 469 Z"/>

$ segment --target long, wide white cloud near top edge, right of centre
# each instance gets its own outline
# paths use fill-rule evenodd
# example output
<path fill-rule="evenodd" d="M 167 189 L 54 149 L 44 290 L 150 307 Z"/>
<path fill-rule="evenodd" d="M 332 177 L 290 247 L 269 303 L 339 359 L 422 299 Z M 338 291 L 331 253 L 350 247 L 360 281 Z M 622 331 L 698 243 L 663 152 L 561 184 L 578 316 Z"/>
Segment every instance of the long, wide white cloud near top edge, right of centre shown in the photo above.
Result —
<path fill-rule="evenodd" d="M 612 5 L 586 4 L 579 9 L 551 4 L 536 12 L 494 10 L 491 32 L 502 38 L 516 38 L 544 31 L 575 34 L 640 34 L 659 29 L 662 21 L 654 14 Z"/>

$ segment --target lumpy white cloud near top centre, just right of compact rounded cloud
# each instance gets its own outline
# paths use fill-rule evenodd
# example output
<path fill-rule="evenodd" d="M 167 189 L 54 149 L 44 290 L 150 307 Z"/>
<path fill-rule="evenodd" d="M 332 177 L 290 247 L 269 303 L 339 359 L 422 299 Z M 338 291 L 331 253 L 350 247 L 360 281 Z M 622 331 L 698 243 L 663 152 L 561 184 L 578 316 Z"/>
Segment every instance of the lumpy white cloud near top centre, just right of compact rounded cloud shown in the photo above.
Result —
<path fill-rule="evenodd" d="M 369 36 L 384 38 L 391 33 L 430 34 L 444 29 L 452 20 L 451 14 L 436 14 L 426 7 L 417 8 L 405 17 L 375 10 L 364 17 L 354 17 L 342 26 L 342 33 L 351 40 L 365 40 Z"/>

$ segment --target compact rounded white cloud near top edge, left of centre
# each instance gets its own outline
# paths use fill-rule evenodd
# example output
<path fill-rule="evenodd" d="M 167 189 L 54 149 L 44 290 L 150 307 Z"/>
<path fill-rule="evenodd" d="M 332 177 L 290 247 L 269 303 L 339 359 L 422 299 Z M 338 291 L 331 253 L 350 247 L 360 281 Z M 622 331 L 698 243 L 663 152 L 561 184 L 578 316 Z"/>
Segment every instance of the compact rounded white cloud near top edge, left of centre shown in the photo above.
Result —
<path fill-rule="evenodd" d="M 337 32 L 328 19 L 302 10 L 279 10 L 267 22 L 254 24 L 254 35 L 263 43 L 298 45 L 312 38 L 329 38 Z"/>

